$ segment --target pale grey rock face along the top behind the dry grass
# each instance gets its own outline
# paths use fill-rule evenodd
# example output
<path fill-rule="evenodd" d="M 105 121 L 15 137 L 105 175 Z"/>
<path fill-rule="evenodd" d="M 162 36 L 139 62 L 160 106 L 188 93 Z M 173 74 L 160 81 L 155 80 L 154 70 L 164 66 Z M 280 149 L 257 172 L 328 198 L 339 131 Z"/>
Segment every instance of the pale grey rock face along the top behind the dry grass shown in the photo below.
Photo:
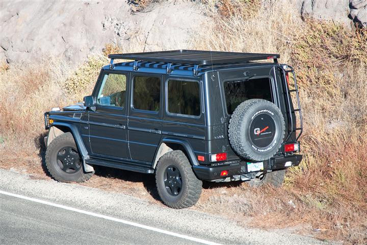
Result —
<path fill-rule="evenodd" d="M 141 12 L 133 12 L 131 2 L 139 3 L 2 1 L 0 61 L 34 63 L 57 57 L 75 65 L 88 55 L 100 54 L 107 43 L 119 45 L 125 52 L 188 48 L 193 34 L 209 21 L 203 9 L 210 4 L 200 1 L 150 1 L 153 4 Z M 214 2 L 218 7 L 228 1 Z M 293 3 L 296 6 L 290 1 L 289 8 L 298 8 L 300 17 L 331 19 L 348 27 L 353 21 L 367 26 L 367 0 Z"/>

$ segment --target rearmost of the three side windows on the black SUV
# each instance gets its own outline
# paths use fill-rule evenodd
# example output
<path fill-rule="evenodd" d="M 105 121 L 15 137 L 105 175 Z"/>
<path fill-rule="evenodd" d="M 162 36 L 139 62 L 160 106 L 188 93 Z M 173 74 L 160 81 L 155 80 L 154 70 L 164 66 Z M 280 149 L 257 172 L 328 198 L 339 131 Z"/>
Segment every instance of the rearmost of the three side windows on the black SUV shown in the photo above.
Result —
<path fill-rule="evenodd" d="M 192 116 L 200 115 L 198 82 L 168 81 L 168 112 Z"/>

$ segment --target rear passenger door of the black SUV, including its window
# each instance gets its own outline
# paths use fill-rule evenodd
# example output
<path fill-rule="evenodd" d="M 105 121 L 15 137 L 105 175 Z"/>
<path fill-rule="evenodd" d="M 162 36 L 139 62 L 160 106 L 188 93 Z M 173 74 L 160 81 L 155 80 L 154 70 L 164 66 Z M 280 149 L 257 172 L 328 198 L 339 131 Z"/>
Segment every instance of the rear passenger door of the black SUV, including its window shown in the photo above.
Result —
<path fill-rule="evenodd" d="M 150 165 L 162 137 L 162 76 L 135 75 L 128 111 L 128 148 L 132 160 Z"/>

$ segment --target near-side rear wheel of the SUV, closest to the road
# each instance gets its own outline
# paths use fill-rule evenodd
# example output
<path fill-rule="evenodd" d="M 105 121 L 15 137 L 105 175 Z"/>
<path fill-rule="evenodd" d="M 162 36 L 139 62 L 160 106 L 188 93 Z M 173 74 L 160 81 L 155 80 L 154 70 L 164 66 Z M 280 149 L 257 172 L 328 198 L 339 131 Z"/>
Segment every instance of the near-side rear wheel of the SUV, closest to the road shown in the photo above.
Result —
<path fill-rule="evenodd" d="M 155 182 L 162 201 L 171 208 L 191 207 L 200 198 L 202 182 L 182 151 L 171 151 L 160 158 Z"/>

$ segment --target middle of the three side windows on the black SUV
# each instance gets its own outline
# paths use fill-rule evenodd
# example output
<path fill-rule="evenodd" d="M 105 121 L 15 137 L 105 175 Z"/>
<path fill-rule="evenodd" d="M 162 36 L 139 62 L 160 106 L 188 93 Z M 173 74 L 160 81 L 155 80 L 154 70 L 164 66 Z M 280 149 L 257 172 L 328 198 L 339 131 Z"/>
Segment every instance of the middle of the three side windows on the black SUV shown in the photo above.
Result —
<path fill-rule="evenodd" d="M 133 106 L 138 110 L 159 111 L 161 79 L 156 77 L 135 77 Z"/>

